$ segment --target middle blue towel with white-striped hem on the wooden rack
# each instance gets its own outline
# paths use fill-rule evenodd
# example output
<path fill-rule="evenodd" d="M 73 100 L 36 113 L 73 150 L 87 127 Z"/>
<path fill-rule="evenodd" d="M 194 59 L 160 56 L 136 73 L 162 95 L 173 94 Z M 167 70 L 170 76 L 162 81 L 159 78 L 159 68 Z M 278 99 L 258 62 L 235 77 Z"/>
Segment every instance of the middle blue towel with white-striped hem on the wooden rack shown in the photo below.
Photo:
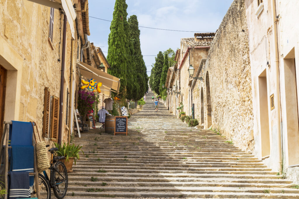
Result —
<path fill-rule="evenodd" d="M 10 171 L 14 172 L 34 172 L 34 147 L 33 146 L 12 146 L 12 158 L 10 161 Z M 29 185 L 33 186 L 34 176 L 29 177 Z"/>

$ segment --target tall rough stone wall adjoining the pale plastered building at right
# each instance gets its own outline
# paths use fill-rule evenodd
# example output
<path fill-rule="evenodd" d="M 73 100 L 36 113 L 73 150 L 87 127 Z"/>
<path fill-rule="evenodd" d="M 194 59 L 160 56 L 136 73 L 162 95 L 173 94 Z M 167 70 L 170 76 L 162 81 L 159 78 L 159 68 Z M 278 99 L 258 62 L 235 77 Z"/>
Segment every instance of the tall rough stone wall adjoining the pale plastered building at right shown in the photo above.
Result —
<path fill-rule="evenodd" d="M 242 150 L 252 151 L 253 107 L 246 33 L 248 30 L 244 0 L 234 0 L 211 44 L 205 67 L 205 80 L 208 72 L 213 128 L 219 128 L 222 135 Z M 198 81 L 197 84 L 204 84 L 205 88 L 207 82 Z M 205 116 L 206 94 L 205 88 Z"/>

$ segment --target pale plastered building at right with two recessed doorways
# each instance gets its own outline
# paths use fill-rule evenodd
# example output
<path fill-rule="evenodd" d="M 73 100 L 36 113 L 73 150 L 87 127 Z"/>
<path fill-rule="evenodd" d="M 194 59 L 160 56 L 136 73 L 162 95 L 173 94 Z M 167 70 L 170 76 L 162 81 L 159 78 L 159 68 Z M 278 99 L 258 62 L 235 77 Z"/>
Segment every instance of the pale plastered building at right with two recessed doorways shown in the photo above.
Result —
<path fill-rule="evenodd" d="M 299 2 L 245 0 L 245 5 L 254 154 L 299 183 Z"/>

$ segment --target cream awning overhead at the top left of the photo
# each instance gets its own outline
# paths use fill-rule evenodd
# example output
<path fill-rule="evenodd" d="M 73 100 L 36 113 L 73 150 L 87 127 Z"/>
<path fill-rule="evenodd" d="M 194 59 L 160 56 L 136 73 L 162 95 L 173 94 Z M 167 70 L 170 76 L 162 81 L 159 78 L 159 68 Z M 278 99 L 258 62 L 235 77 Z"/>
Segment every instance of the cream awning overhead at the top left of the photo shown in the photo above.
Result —
<path fill-rule="evenodd" d="M 70 26 L 71 29 L 71 33 L 72 33 L 72 37 L 73 39 L 75 39 L 75 19 L 77 17 L 77 14 L 75 12 L 75 9 L 73 7 L 73 3 L 71 0 L 55 0 L 55 1 L 51 1 L 51 0 L 28 0 L 28 1 L 32 1 L 41 5 L 45 5 L 48 7 L 52 7 L 54 9 L 61 9 L 63 8 L 66 18 L 68 19 L 68 24 Z"/>

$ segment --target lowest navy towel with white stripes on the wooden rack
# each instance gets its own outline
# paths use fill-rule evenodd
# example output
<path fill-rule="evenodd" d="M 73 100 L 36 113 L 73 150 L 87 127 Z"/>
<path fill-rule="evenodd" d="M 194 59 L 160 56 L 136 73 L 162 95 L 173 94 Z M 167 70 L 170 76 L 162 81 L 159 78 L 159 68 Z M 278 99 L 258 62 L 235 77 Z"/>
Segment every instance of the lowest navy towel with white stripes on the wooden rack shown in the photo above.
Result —
<path fill-rule="evenodd" d="M 30 198 L 29 173 L 8 172 L 9 199 Z"/>

